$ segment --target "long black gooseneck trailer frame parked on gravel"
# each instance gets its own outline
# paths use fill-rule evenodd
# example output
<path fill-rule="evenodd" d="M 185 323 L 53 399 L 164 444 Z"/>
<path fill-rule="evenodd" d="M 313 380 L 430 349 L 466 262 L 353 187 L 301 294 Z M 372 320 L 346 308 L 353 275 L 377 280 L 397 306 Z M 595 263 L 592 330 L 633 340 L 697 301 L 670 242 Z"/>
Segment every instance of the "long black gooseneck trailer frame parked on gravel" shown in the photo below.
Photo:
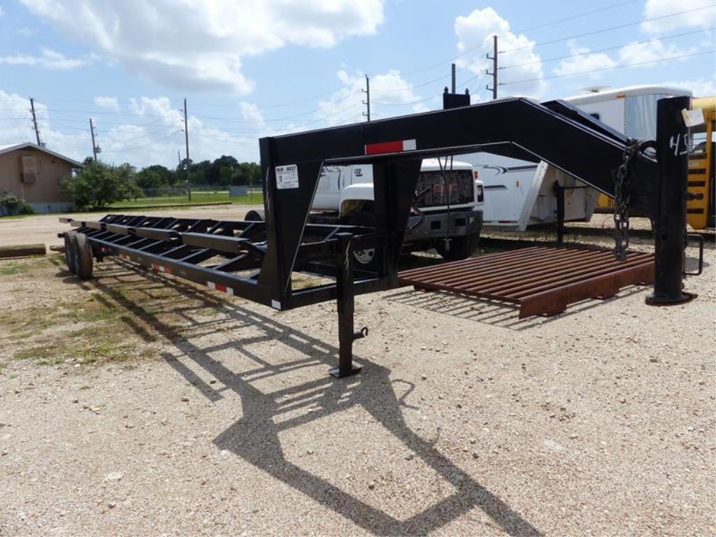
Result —
<path fill-rule="evenodd" d="M 688 97 L 661 100 L 657 140 L 639 145 L 565 102 L 521 98 L 262 138 L 264 221 L 65 218 L 84 236 L 77 241 L 64 233 L 68 266 L 86 277 L 91 265 L 88 274 L 79 260 L 119 255 L 279 310 L 336 299 L 340 350 L 332 374 L 347 376 L 359 370 L 352 363 L 354 339 L 367 335 L 354 331 L 354 296 L 398 285 L 422 159 L 489 150 L 536 156 L 609 195 L 621 169 L 627 179 L 616 183 L 621 198 L 654 218 L 654 294 L 647 301 L 679 303 L 692 298 L 682 291 L 688 149 L 682 110 L 689 107 Z M 625 161 L 626 154 L 633 158 Z M 321 167 L 348 163 L 373 166 L 376 226 L 309 223 Z M 365 248 L 375 248 L 374 269 L 353 266 L 352 252 Z M 301 272 L 328 283 L 294 289 L 293 276 Z"/>

